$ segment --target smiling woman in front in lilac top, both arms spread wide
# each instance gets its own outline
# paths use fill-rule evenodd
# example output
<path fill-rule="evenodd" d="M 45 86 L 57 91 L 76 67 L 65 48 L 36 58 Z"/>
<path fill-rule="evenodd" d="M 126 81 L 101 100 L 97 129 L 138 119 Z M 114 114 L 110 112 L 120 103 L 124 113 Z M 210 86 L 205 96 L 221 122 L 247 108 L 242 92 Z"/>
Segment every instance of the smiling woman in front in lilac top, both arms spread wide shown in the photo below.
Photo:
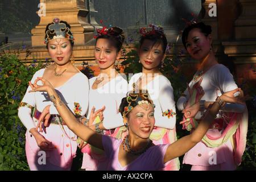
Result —
<path fill-rule="evenodd" d="M 39 80 L 43 82 L 43 86 L 37 85 Z M 67 121 L 68 127 L 77 136 L 105 151 L 106 157 L 109 158 L 110 162 L 108 170 L 120 171 L 152 171 L 163 169 L 172 159 L 183 155 L 195 146 L 196 143 L 200 142 L 220 109 L 221 102 L 243 104 L 243 101 L 248 99 L 248 97 L 243 97 L 241 89 L 224 93 L 220 96 L 221 102 L 214 102 L 212 107 L 207 111 L 207 114 L 205 114 L 203 121 L 192 134 L 172 144 L 155 145 L 150 139 L 150 134 L 155 124 L 154 103 L 147 90 L 136 89 L 134 86 L 134 90 L 122 99 L 119 112 L 122 114 L 124 125 L 129 130 L 129 135 L 124 139 L 117 139 L 108 135 L 98 134 L 89 127 L 77 122 L 73 114 L 58 99 L 57 93 L 52 85 L 44 78 L 38 78 L 34 84 L 30 83 L 30 85 L 32 88 L 30 92 L 47 91 L 61 117 Z M 234 93 L 238 91 L 241 92 L 241 97 L 234 97 Z M 93 118 L 96 118 L 98 112 L 102 110 L 94 113 L 92 109 L 90 119 L 93 120 Z"/>

